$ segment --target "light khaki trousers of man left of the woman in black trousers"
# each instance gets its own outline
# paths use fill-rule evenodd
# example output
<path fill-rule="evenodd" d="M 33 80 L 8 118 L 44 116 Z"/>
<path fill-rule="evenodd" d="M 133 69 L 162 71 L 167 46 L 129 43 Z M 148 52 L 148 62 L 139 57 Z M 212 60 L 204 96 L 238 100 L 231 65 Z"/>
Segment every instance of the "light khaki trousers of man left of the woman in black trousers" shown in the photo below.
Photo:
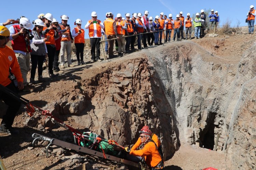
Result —
<path fill-rule="evenodd" d="M 67 61 L 68 66 L 72 64 L 71 62 L 71 41 L 62 41 L 60 43 L 60 65 L 65 64 L 65 51 L 67 51 Z"/>

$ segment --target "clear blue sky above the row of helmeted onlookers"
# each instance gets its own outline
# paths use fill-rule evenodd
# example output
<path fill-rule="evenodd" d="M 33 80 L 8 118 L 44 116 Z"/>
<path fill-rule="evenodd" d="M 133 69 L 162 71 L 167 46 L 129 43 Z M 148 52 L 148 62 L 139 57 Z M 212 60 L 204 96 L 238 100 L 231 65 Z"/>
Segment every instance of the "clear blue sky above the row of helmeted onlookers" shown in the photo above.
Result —
<path fill-rule="evenodd" d="M 30 2 L 30 3 L 28 3 Z M 37 19 L 40 13 L 51 13 L 53 17 L 58 21 L 61 21 L 60 15 L 67 15 L 69 17 L 68 24 L 71 29 L 75 27 L 74 22 L 77 18 L 80 18 L 82 22 L 82 28 L 84 28 L 86 22 L 91 19 L 91 12 L 96 11 L 99 20 L 104 20 L 107 12 L 112 12 L 115 16 L 117 13 L 121 13 L 125 16 L 125 13 L 144 13 L 145 10 L 149 11 L 149 16 L 155 17 L 163 12 L 165 15 L 176 15 L 180 11 L 186 16 L 190 13 L 191 16 L 201 9 L 214 9 L 218 11 L 220 16 L 220 24 L 229 19 L 231 20 L 231 26 L 237 26 L 238 20 L 240 20 L 240 26 L 247 26 L 245 23 L 246 13 L 250 10 L 250 5 L 256 5 L 253 2 L 243 1 L 231 1 L 231 0 L 214 0 L 214 1 L 173 1 L 173 0 L 80 0 L 80 1 L 67 1 L 67 0 L 45 0 L 45 1 L 15 1 L 15 4 L 10 6 L 9 1 L 1 2 L 1 20 L 5 22 L 6 19 L 17 19 L 19 16 L 25 16 L 30 21 Z M 256 8 L 256 7 L 255 7 Z M 27 9 L 27 10 L 25 10 Z M 9 26 L 10 27 L 10 26 Z M 85 38 L 88 38 L 88 30 L 85 30 Z"/>

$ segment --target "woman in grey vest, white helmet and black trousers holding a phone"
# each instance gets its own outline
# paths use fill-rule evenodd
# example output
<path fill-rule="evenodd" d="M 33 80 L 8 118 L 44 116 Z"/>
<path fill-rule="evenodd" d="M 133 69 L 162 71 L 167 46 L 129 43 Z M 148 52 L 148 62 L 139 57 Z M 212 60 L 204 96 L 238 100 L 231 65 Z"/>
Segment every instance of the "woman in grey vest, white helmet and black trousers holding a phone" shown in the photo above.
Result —
<path fill-rule="evenodd" d="M 32 34 L 34 35 L 33 41 L 31 44 L 32 52 L 30 52 L 31 56 L 31 75 L 30 75 L 30 84 L 35 84 L 35 75 L 36 75 L 36 69 L 38 66 L 38 80 L 40 82 L 43 81 L 43 61 L 45 59 L 45 55 L 47 53 L 47 48 L 45 45 L 45 41 L 48 39 L 44 37 L 42 34 L 42 30 L 44 27 L 44 23 L 41 19 L 36 19 L 33 21 L 34 28 L 32 30 Z"/>

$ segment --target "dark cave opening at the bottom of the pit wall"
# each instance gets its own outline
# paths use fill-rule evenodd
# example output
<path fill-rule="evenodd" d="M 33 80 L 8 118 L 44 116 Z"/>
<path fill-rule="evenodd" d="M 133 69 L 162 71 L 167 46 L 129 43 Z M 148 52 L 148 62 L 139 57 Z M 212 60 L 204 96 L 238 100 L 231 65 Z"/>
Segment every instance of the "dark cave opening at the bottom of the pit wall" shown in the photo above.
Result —
<path fill-rule="evenodd" d="M 214 144 L 215 144 L 214 129 L 216 128 L 216 125 L 214 124 L 214 122 L 215 122 L 217 113 L 211 112 L 209 115 L 210 115 L 210 120 L 208 121 L 205 129 L 203 130 L 202 136 L 200 135 L 200 138 L 201 138 L 202 147 L 213 150 Z"/>

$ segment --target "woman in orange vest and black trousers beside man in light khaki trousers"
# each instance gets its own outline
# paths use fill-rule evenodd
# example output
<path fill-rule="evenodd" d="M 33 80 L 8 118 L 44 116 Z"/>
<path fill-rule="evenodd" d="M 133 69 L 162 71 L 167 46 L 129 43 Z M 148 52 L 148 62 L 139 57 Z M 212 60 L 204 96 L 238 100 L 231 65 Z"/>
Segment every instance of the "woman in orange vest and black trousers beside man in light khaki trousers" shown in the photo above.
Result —
<path fill-rule="evenodd" d="M 75 22 L 77 27 L 73 28 L 72 30 L 72 37 L 75 39 L 75 46 L 76 46 L 76 55 L 77 55 L 77 62 L 78 65 L 85 64 L 83 61 L 83 49 L 84 49 L 84 29 L 81 28 L 82 20 L 77 19 Z"/>

